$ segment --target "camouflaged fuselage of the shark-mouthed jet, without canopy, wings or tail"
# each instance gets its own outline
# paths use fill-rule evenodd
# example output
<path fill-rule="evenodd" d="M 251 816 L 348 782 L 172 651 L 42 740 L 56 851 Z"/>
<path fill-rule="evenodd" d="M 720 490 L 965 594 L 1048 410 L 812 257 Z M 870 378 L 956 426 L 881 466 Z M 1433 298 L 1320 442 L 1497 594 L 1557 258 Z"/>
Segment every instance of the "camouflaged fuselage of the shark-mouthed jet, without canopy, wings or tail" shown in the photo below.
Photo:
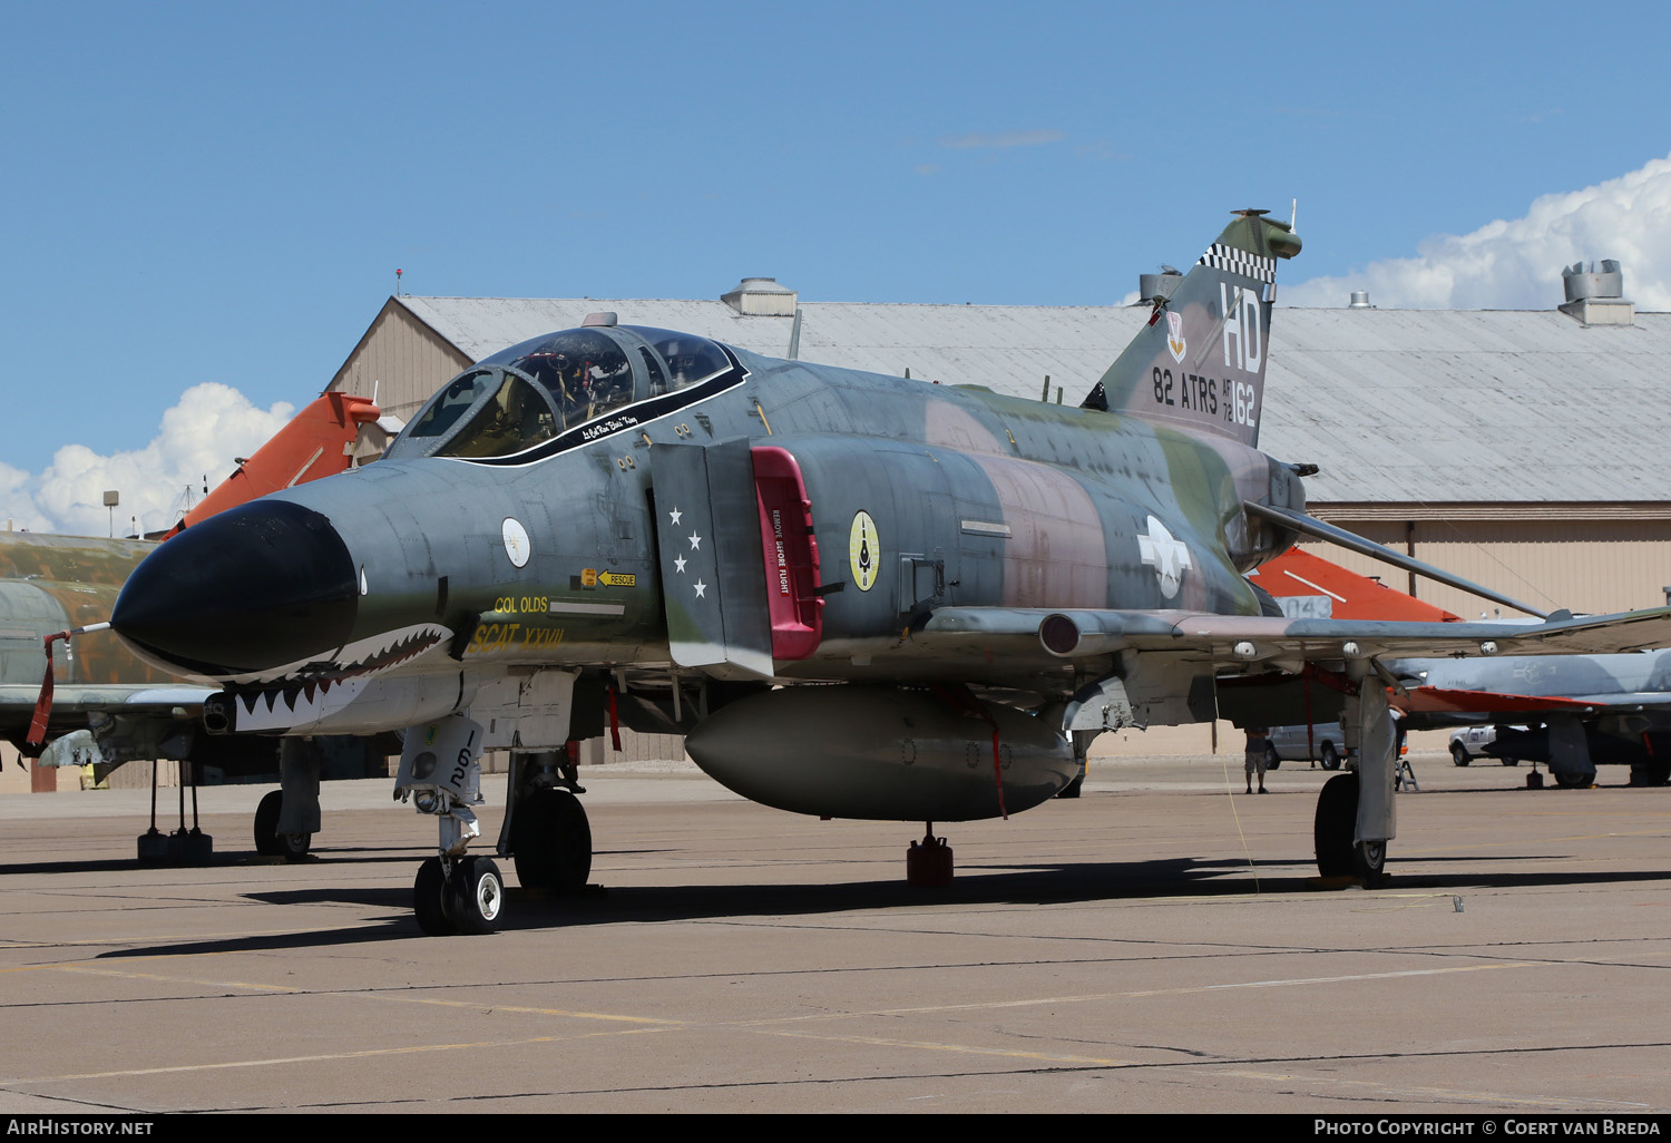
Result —
<path fill-rule="evenodd" d="M 147 563 L 165 570 L 140 570 L 117 627 L 142 653 L 244 690 L 403 667 L 453 675 L 419 704 L 428 712 L 506 668 L 677 665 L 682 620 L 700 627 L 715 598 L 725 607 L 759 587 L 795 595 L 817 633 L 777 640 L 754 677 L 897 680 L 886 652 L 939 605 L 1258 613 L 1242 572 L 1283 538 L 1240 505 L 1303 505 L 1288 466 L 1235 441 L 725 354 L 729 369 L 683 401 L 623 403 L 500 456 L 403 458 L 396 446 L 226 513 Z M 777 471 L 804 488 L 790 500 L 807 501 L 812 545 L 795 583 L 774 566 L 765 478 L 759 498 L 735 481 L 720 490 L 734 476 L 720 470 L 760 450 L 777 450 Z M 710 488 L 675 463 L 698 453 Z M 302 556 L 279 551 L 294 536 L 307 538 Z M 754 583 L 739 588 L 750 565 Z M 1013 683 L 1051 668 L 1064 670 L 1041 652 L 964 675 Z M 934 673 L 944 678 L 944 663 Z"/>

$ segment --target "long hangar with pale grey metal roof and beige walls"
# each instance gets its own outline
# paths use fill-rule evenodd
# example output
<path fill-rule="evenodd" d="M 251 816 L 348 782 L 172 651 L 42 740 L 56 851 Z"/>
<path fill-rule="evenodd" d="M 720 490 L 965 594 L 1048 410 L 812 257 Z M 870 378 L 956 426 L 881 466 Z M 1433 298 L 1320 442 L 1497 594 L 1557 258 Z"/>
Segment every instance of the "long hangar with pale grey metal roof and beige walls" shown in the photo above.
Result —
<path fill-rule="evenodd" d="M 1671 314 L 1636 312 L 1611 272 L 1566 271 L 1546 311 L 1280 307 L 1260 448 L 1308 461 L 1315 515 L 1534 607 L 1613 612 L 1671 595 Z M 1551 274 L 1554 279 L 1554 272 Z M 1554 301 L 1556 286 L 1551 281 Z M 468 364 L 615 311 L 703 334 L 1018 398 L 1078 404 L 1146 306 L 814 302 L 769 277 L 714 301 L 389 297 L 331 389 L 409 419 Z M 1482 602 L 1322 553 L 1457 612 Z M 1496 612 L 1497 608 L 1489 608 Z M 1153 742 L 1153 737 L 1151 737 Z"/>

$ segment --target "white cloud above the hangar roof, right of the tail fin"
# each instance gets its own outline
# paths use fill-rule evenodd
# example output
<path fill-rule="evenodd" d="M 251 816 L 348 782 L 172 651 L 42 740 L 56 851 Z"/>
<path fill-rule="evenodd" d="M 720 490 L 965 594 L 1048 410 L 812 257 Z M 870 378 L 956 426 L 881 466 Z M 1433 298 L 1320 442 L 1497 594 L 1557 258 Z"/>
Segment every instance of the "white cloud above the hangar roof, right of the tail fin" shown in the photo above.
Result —
<path fill-rule="evenodd" d="M 1302 229 L 1302 237 L 1305 236 Z M 1638 309 L 1671 309 L 1671 157 L 1619 179 L 1536 199 L 1524 217 L 1442 234 L 1415 257 L 1370 262 L 1280 292 L 1288 306 L 1345 306 L 1354 289 L 1387 307 L 1554 309 L 1561 267 L 1618 259 Z"/>

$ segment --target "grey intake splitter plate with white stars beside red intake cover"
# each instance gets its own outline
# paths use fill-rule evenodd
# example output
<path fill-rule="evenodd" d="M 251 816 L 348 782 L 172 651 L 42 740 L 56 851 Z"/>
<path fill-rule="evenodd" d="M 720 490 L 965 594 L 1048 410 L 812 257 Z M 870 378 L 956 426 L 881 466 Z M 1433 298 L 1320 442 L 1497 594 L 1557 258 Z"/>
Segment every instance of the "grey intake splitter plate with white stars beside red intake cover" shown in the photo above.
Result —
<path fill-rule="evenodd" d="M 715 678 L 770 678 L 772 623 L 749 441 L 657 444 L 650 471 L 673 662 Z"/>

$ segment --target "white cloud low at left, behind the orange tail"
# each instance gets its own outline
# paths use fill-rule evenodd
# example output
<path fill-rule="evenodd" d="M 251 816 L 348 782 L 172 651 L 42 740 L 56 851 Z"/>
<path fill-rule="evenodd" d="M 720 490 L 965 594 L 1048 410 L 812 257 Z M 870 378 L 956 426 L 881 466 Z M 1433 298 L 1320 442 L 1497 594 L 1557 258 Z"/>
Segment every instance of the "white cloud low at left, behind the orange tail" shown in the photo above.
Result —
<path fill-rule="evenodd" d="M 105 490 L 117 490 L 117 535 L 129 535 L 132 520 L 140 531 L 172 526 L 190 486 L 202 496 L 204 476 L 214 488 L 294 416 L 279 401 L 259 409 L 237 389 L 204 383 L 180 394 L 162 414 L 162 426 L 145 448 L 100 456 L 85 444 L 65 444 L 43 473 L 30 475 L 0 465 L 0 515 L 32 531 L 102 536 L 109 530 Z"/>

